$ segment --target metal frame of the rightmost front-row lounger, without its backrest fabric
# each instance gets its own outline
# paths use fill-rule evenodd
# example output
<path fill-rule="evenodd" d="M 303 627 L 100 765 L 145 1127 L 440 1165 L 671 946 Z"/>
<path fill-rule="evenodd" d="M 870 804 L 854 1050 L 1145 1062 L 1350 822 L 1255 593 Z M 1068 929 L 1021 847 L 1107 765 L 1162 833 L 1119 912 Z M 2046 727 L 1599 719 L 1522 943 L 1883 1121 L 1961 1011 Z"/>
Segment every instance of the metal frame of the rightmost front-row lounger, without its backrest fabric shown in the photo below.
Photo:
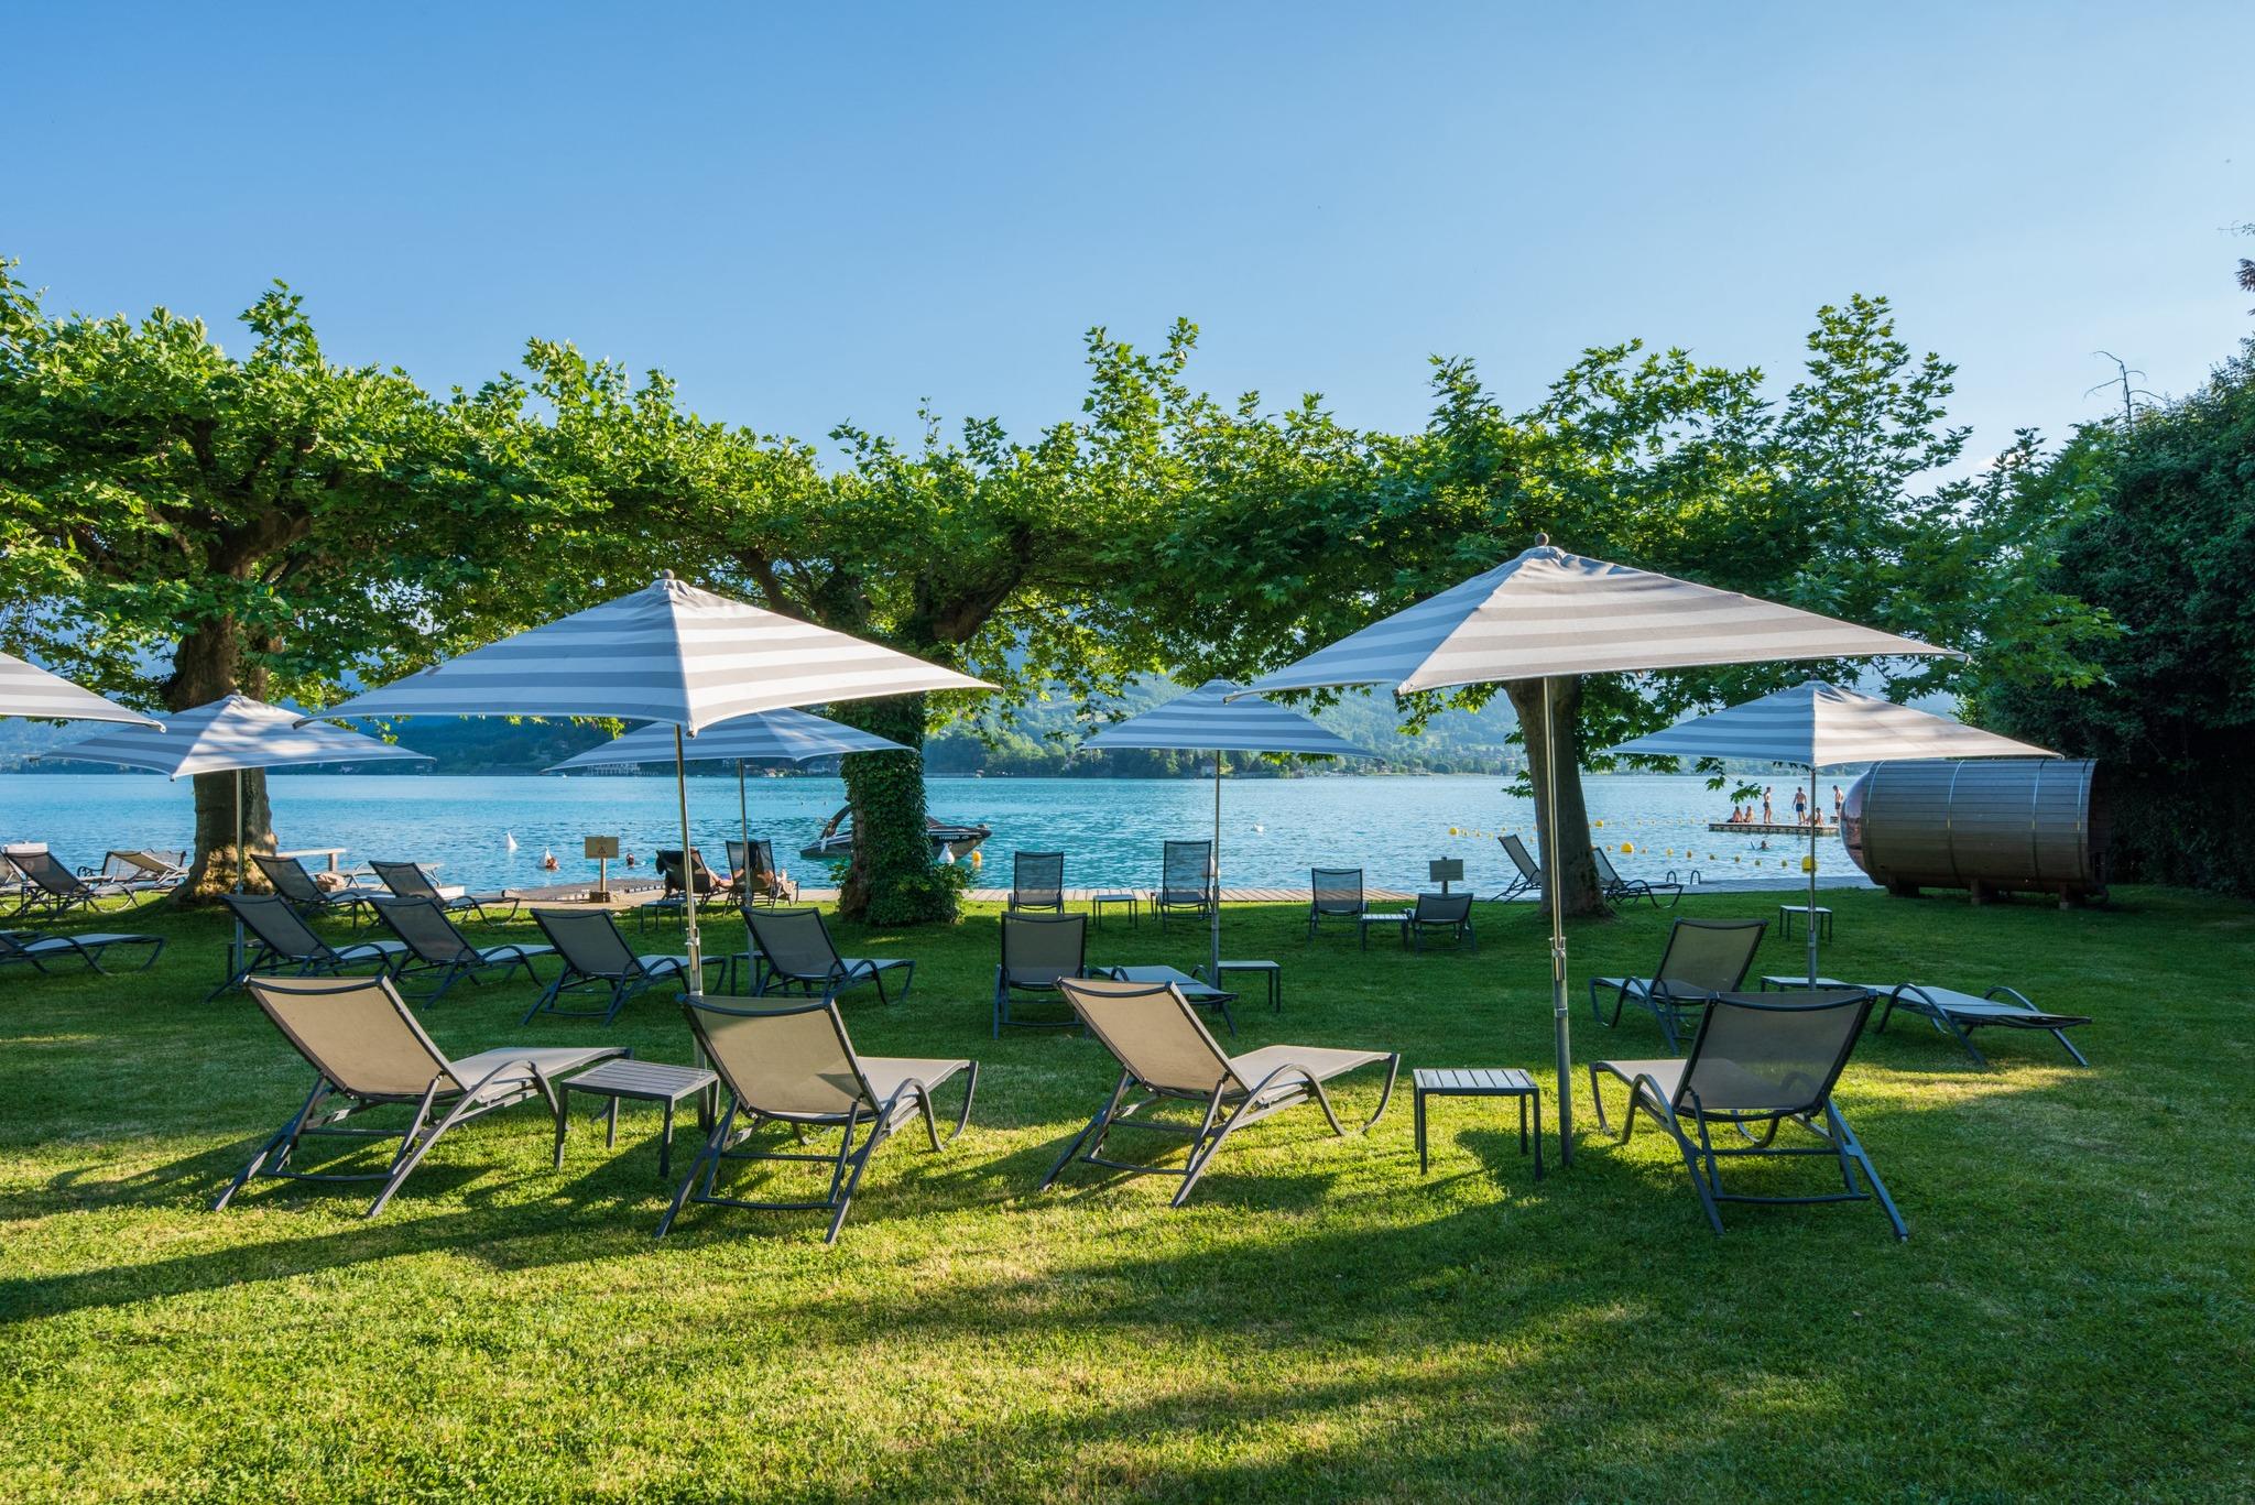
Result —
<path fill-rule="evenodd" d="M 1675 1148 L 1682 1153 L 1684 1171 L 1691 1176 L 1691 1189 L 1698 1191 L 1700 1207 L 1707 1212 L 1707 1225 L 1714 1227 L 1716 1236 L 1723 1232 L 1721 1203 L 1813 1207 L 1820 1203 L 1876 1200 L 1881 1212 L 1887 1214 L 1887 1225 L 1894 1227 L 1894 1236 L 1908 1239 L 1910 1230 L 1903 1225 L 1903 1214 L 1896 1212 L 1894 1198 L 1887 1196 L 1887 1185 L 1878 1178 L 1878 1167 L 1872 1164 L 1872 1155 L 1863 1148 L 1856 1130 L 1849 1128 L 1847 1117 L 1842 1117 L 1840 1108 L 1831 1101 L 1833 1085 L 1840 1081 L 1840 1072 L 1847 1067 L 1847 1058 L 1856 1049 L 1856 1036 L 1863 1033 L 1872 1004 L 1874 997 L 1869 988 L 1813 995 L 1802 993 L 1795 995 L 1793 1002 L 1775 1002 L 1775 997 L 1748 993 L 1723 993 L 1709 1000 L 1707 1009 L 1700 1011 L 1698 1033 L 1691 1036 L 1691 1049 L 1682 1060 L 1597 1060 L 1590 1065 L 1590 1101 L 1597 1106 L 1597 1126 L 1601 1133 L 1612 1133 L 1612 1126 L 1606 1121 L 1606 1094 L 1599 1092 L 1599 1079 L 1612 1076 L 1628 1085 L 1628 1110 L 1621 1117 L 1621 1144 L 1628 1144 L 1628 1137 L 1635 1133 L 1639 1112 L 1675 1139 Z M 1705 1108 L 1696 1090 L 1703 1049 L 1709 1031 L 1714 1029 L 1714 1020 L 1721 1011 L 1732 1009 L 1768 1013 L 1854 1009 L 1856 1018 L 1854 1029 L 1847 1029 L 1842 1045 L 1831 1060 L 1831 1070 L 1824 1074 L 1822 1083 L 1809 1083 L 1802 1101 L 1761 1110 Z M 1662 1076 L 1671 1072 L 1673 1085 L 1662 1081 Z M 1795 1124 L 1815 1135 L 1818 1144 L 1775 1144 L 1777 1130 L 1786 1124 Z M 1736 1133 L 1739 1142 L 1716 1144 L 1714 1126 Z M 1815 1196 L 1754 1196 L 1748 1191 L 1723 1189 L 1723 1160 L 1802 1155 L 1831 1155 L 1840 1167 L 1842 1189 Z M 1858 1171 L 1865 1178 L 1863 1189 L 1856 1187 Z"/>

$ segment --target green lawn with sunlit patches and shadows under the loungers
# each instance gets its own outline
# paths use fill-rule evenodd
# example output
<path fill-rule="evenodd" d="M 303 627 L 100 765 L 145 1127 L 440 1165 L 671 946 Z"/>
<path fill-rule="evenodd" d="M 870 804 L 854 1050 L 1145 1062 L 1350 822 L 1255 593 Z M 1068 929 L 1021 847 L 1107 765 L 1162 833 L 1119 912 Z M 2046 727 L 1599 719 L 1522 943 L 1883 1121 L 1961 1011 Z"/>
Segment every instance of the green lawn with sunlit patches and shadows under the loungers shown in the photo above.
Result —
<path fill-rule="evenodd" d="M 1033 1191 L 1112 1070 L 1078 1036 L 988 1038 L 983 912 L 841 932 L 920 963 L 907 1006 L 848 1002 L 861 1049 L 985 1072 L 972 1130 L 945 1155 L 897 1137 L 837 1248 L 819 1214 L 715 1207 L 654 1243 L 656 1115 L 607 1153 L 586 1099 L 561 1173 L 528 1106 L 444 1139 L 374 1223 L 356 1189 L 286 1182 L 212 1214 L 307 1074 L 244 997 L 201 1002 L 214 918 L 138 916 L 174 936 L 149 975 L 0 972 L 0 1496 L 2255 1494 L 2255 907 L 1831 903 L 1827 970 L 1926 957 L 2097 1015 L 2090 1072 L 2005 1031 L 1982 1072 L 1919 1020 L 1863 1045 L 1840 1103 L 1908 1243 L 1869 1205 L 1725 1209 L 1716 1239 L 1666 1139 L 1617 1151 L 1588 1117 L 1536 1185 L 1500 1103 L 1441 1103 L 1418 1178 L 1407 1067 L 1547 1079 L 1540 916 L 1493 905 L 1477 954 L 1416 959 L 1231 909 L 1227 950 L 1288 968 L 1281 1018 L 1240 1006 L 1243 1047 L 1400 1049 L 1403 1094 L 1367 1142 L 1315 1110 L 1256 1126 L 1182 1212 L 1159 1178 Z M 1578 927 L 1574 975 L 1648 966 L 1664 927 Z M 1091 943 L 1202 950 L 1118 921 Z M 1799 954 L 1772 939 L 1763 968 Z M 688 1056 L 663 997 L 609 1031 L 519 1029 L 528 1000 L 458 988 L 426 1022 L 462 1051 Z M 1576 1051 L 1662 1047 L 1578 1006 Z M 1376 1074 L 1344 1099 L 1367 1115 Z"/>

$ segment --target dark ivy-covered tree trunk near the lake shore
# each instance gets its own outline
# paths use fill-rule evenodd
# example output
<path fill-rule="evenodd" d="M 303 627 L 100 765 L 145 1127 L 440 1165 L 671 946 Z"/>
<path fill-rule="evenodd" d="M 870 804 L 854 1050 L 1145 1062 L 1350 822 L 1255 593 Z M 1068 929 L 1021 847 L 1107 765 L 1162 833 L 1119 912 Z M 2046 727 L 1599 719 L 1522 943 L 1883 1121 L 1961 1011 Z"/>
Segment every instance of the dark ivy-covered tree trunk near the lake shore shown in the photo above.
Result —
<path fill-rule="evenodd" d="M 954 921 L 963 875 L 931 860 L 925 830 L 925 697 L 855 699 L 830 706 L 830 715 L 918 749 L 843 760 L 852 862 L 839 887 L 839 914 L 868 925 Z"/>

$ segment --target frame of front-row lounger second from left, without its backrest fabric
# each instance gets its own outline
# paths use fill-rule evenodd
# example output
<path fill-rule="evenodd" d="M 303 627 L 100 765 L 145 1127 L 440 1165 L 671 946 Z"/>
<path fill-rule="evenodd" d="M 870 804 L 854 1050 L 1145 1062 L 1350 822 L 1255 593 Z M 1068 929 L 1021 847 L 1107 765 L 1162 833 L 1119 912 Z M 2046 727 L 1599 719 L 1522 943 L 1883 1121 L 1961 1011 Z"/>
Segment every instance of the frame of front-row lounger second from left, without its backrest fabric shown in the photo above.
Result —
<path fill-rule="evenodd" d="M 746 1009 L 751 1000 L 697 1000 L 683 1004 L 683 1013 L 690 1020 L 690 1031 L 697 1036 L 697 1049 L 704 1060 L 713 1063 L 722 1088 L 728 1090 L 728 1108 L 719 1112 L 713 1130 L 706 1135 L 704 1146 L 699 1146 L 697 1158 L 690 1162 L 688 1176 L 674 1189 L 674 1200 L 658 1221 L 656 1239 L 663 1239 L 672 1230 L 674 1218 L 690 1203 L 704 1203 L 708 1207 L 744 1207 L 751 1212 L 828 1212 L 830 1227 L 823 1232 L 823 1243 L 837 1243 L 839 1230 L 846 1227 L 846 1214 L 852 1209 L 852 1196 L 861 1187 L 861 1173 L 868 1169 L 870 1158 L 877 1148 L 893 1137 L 893 1130 L 902 1128 L 909 1119 L 922 1117 L 925 1133 L 931 1139 L 931 1148 L 945 1151 L 958 1137 L 963 1137 L 965 1126 L 972 1121 L 972 1101 L 979 1097 L 979 1063 L 976 1060 L 949 1060 L 945 1076 L 934 1076 L 925 1081 L 920 1076 L 907 1076 L 891 1094 L 877 1097 L 870 1088 L 866 1060 L 884 1060 L 882 1056 L 861 1056 L 852 1047 L 852 1038 L 846 1033 L 846 1018 L 839 1013 L 837 1000 L 823 997 L 810 1004 L 787 1006 L 787 1009 Z M 823 1013 L 830 1020 L 832 1031 L 837 1031 L 841 1060 L 848 1065 L 855 1083 L 855 1101 L 841 1112 L 787 1112 L 776 1108 L 760 1108 L 758 1092 L 737 1081 L 728 1065 L 728 1051 L 715 1049 L 708 1022 L 713 1018 L 798 1018 L 810 1013 Z M 956 1126 L 940 1137 L 938 1117 L 931 1106 L 931 1094 L 947 1083 L 958 1070 L 967 1072 L 963 1083 L 963 1108 L 956 1112 Z M 737 1130 L 737 1119 L 744 1119 L 742 1130 Z M 839 1130 L 839 1148 L 834 1155 L 807 1153 L 807 1151 L 771 1151 L 771 1148 L 742 1148 L 749 1137 L 767 1124 L 787 1124 L 796 1142 L 805 1142 L 810 1128 L 834 1128 Z M 859 1135 L 859 1144 L 855 1142 Z M 722 1196 L 715 1189 L 724 1162 L 771 1162 L 771 1164 L 828 1164 L 830 1187 L 821 1198 L 814 1200 L 758 1200 L 742 1196 Z M 701 1182 L 701 1185 L 699 1185 Z"/>

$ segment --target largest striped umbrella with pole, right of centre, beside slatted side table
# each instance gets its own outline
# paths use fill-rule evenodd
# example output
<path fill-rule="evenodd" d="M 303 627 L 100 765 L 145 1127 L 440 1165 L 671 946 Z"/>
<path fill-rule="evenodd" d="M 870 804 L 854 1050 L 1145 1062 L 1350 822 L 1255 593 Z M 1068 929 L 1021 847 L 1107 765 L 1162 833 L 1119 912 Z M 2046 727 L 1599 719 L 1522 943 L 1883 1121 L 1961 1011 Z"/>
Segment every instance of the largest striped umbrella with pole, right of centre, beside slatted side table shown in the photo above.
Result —
<path fill-rule="evenodd" d="M 1538 542 L 1515 560 L 1371 623 L 1249 686 L 1308 690 L 1385 684 L 1396 693 L 1542 679 L 1542 756 L 1549 808 L 1542 869 L 1556 864 L 1558 808 L 1551 765 L 1554 679 L 1714 663 L 1948 654 L 1946 648 L 1781 607 L 1757 596 L 1626 564 L 1585 560 Z M 1551 912 L 1551 1018 L 1558 1054 L 1558 1158 L 1574 1158 L 1574 1049 L 1565 1002 L 1565 912 Z"/>

